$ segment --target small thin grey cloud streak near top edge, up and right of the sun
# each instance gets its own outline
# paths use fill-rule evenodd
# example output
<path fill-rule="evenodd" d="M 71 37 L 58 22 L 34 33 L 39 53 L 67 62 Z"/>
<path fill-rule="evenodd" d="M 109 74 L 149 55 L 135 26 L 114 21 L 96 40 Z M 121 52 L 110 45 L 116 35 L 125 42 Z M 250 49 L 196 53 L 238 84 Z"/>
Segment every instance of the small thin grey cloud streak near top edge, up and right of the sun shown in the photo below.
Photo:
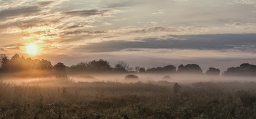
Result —
<path fill-rule="evenodd" d="M 69 11 L 64 12 L 66 15 L 71 16 L 79 16 L 79 17 L 89 17 L 93 15 L 103 15 L 105 12 L 108 12 L 109 10 L 98 10 L 98 9 L 90 9 L 90 10 L 80 10 L 80 11 Z"/>

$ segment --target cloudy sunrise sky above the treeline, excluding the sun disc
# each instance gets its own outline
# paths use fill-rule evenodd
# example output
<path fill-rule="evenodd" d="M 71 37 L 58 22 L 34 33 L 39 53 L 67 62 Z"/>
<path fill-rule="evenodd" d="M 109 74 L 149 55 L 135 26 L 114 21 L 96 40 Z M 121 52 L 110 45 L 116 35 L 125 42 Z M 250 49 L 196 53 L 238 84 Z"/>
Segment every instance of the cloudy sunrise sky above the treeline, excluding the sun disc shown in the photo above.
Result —
<path fill-rule="evenodd" d="M 39 52 L 26 53 L 37 44 Z M 255 0 L 0 0 L 0 54 L 131 67 L 256 64 Z"/>

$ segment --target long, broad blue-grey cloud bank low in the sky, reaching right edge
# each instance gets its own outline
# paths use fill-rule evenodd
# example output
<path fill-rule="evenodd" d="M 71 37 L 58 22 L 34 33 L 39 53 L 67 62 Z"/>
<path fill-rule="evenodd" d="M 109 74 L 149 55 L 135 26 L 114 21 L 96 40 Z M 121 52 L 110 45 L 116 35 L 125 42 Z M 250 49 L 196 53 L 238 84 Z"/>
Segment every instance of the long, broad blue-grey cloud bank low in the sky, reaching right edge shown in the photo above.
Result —
<path fill-rule="evenodd" d="M 86 52 L 117 52 L 124 49 L 238 49 L 253 52 L 256 34 L 185 35 L 173 38 L 143 38 L 140 41 L 103 41 L 78 46 Z"/>

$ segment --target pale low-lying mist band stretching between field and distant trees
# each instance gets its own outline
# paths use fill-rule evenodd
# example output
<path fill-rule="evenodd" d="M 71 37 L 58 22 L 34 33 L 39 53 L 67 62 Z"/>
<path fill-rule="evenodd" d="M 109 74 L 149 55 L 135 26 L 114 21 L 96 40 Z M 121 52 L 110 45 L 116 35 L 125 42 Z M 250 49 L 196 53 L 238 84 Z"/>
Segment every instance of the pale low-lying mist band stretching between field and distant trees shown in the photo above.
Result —
<path fill-rule="evenodd" d="M 127 75 L 135 75 L 136 78 L 127 78 Z M 0 80 L 14 83 L 56 83 L 56 80 L 68 79 L 74 83 L 78 82 L 118 82 L 118 83 L 154 83 L 166 81 L 169 83 L 196 83 L 196 82 L 250 82 L 255 81 L 254 77 L 238 76 L 216 76 L 216 75 L 195 75 L 189 73 L 168 74 L 168 73 L 88 73 L 88 74 L 70 74 L 70 75 L 47 75 L 40 77 L 18 77 L 18 76 L 1 76 Z M 49 84 L 50 85 L 50 84 Z"/>

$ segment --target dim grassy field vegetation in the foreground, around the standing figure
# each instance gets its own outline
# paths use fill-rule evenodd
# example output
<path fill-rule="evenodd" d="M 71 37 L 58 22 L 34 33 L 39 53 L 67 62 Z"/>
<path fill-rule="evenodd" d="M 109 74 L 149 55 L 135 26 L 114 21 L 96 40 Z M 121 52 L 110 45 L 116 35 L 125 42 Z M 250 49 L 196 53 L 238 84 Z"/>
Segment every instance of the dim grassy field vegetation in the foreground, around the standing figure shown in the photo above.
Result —
<path fill-rule="evenodd" d="M 181 84 L 180 84 L 181 85 Z M 256 118 L 256 83 L 0 83 L 0 118 Z"/>

